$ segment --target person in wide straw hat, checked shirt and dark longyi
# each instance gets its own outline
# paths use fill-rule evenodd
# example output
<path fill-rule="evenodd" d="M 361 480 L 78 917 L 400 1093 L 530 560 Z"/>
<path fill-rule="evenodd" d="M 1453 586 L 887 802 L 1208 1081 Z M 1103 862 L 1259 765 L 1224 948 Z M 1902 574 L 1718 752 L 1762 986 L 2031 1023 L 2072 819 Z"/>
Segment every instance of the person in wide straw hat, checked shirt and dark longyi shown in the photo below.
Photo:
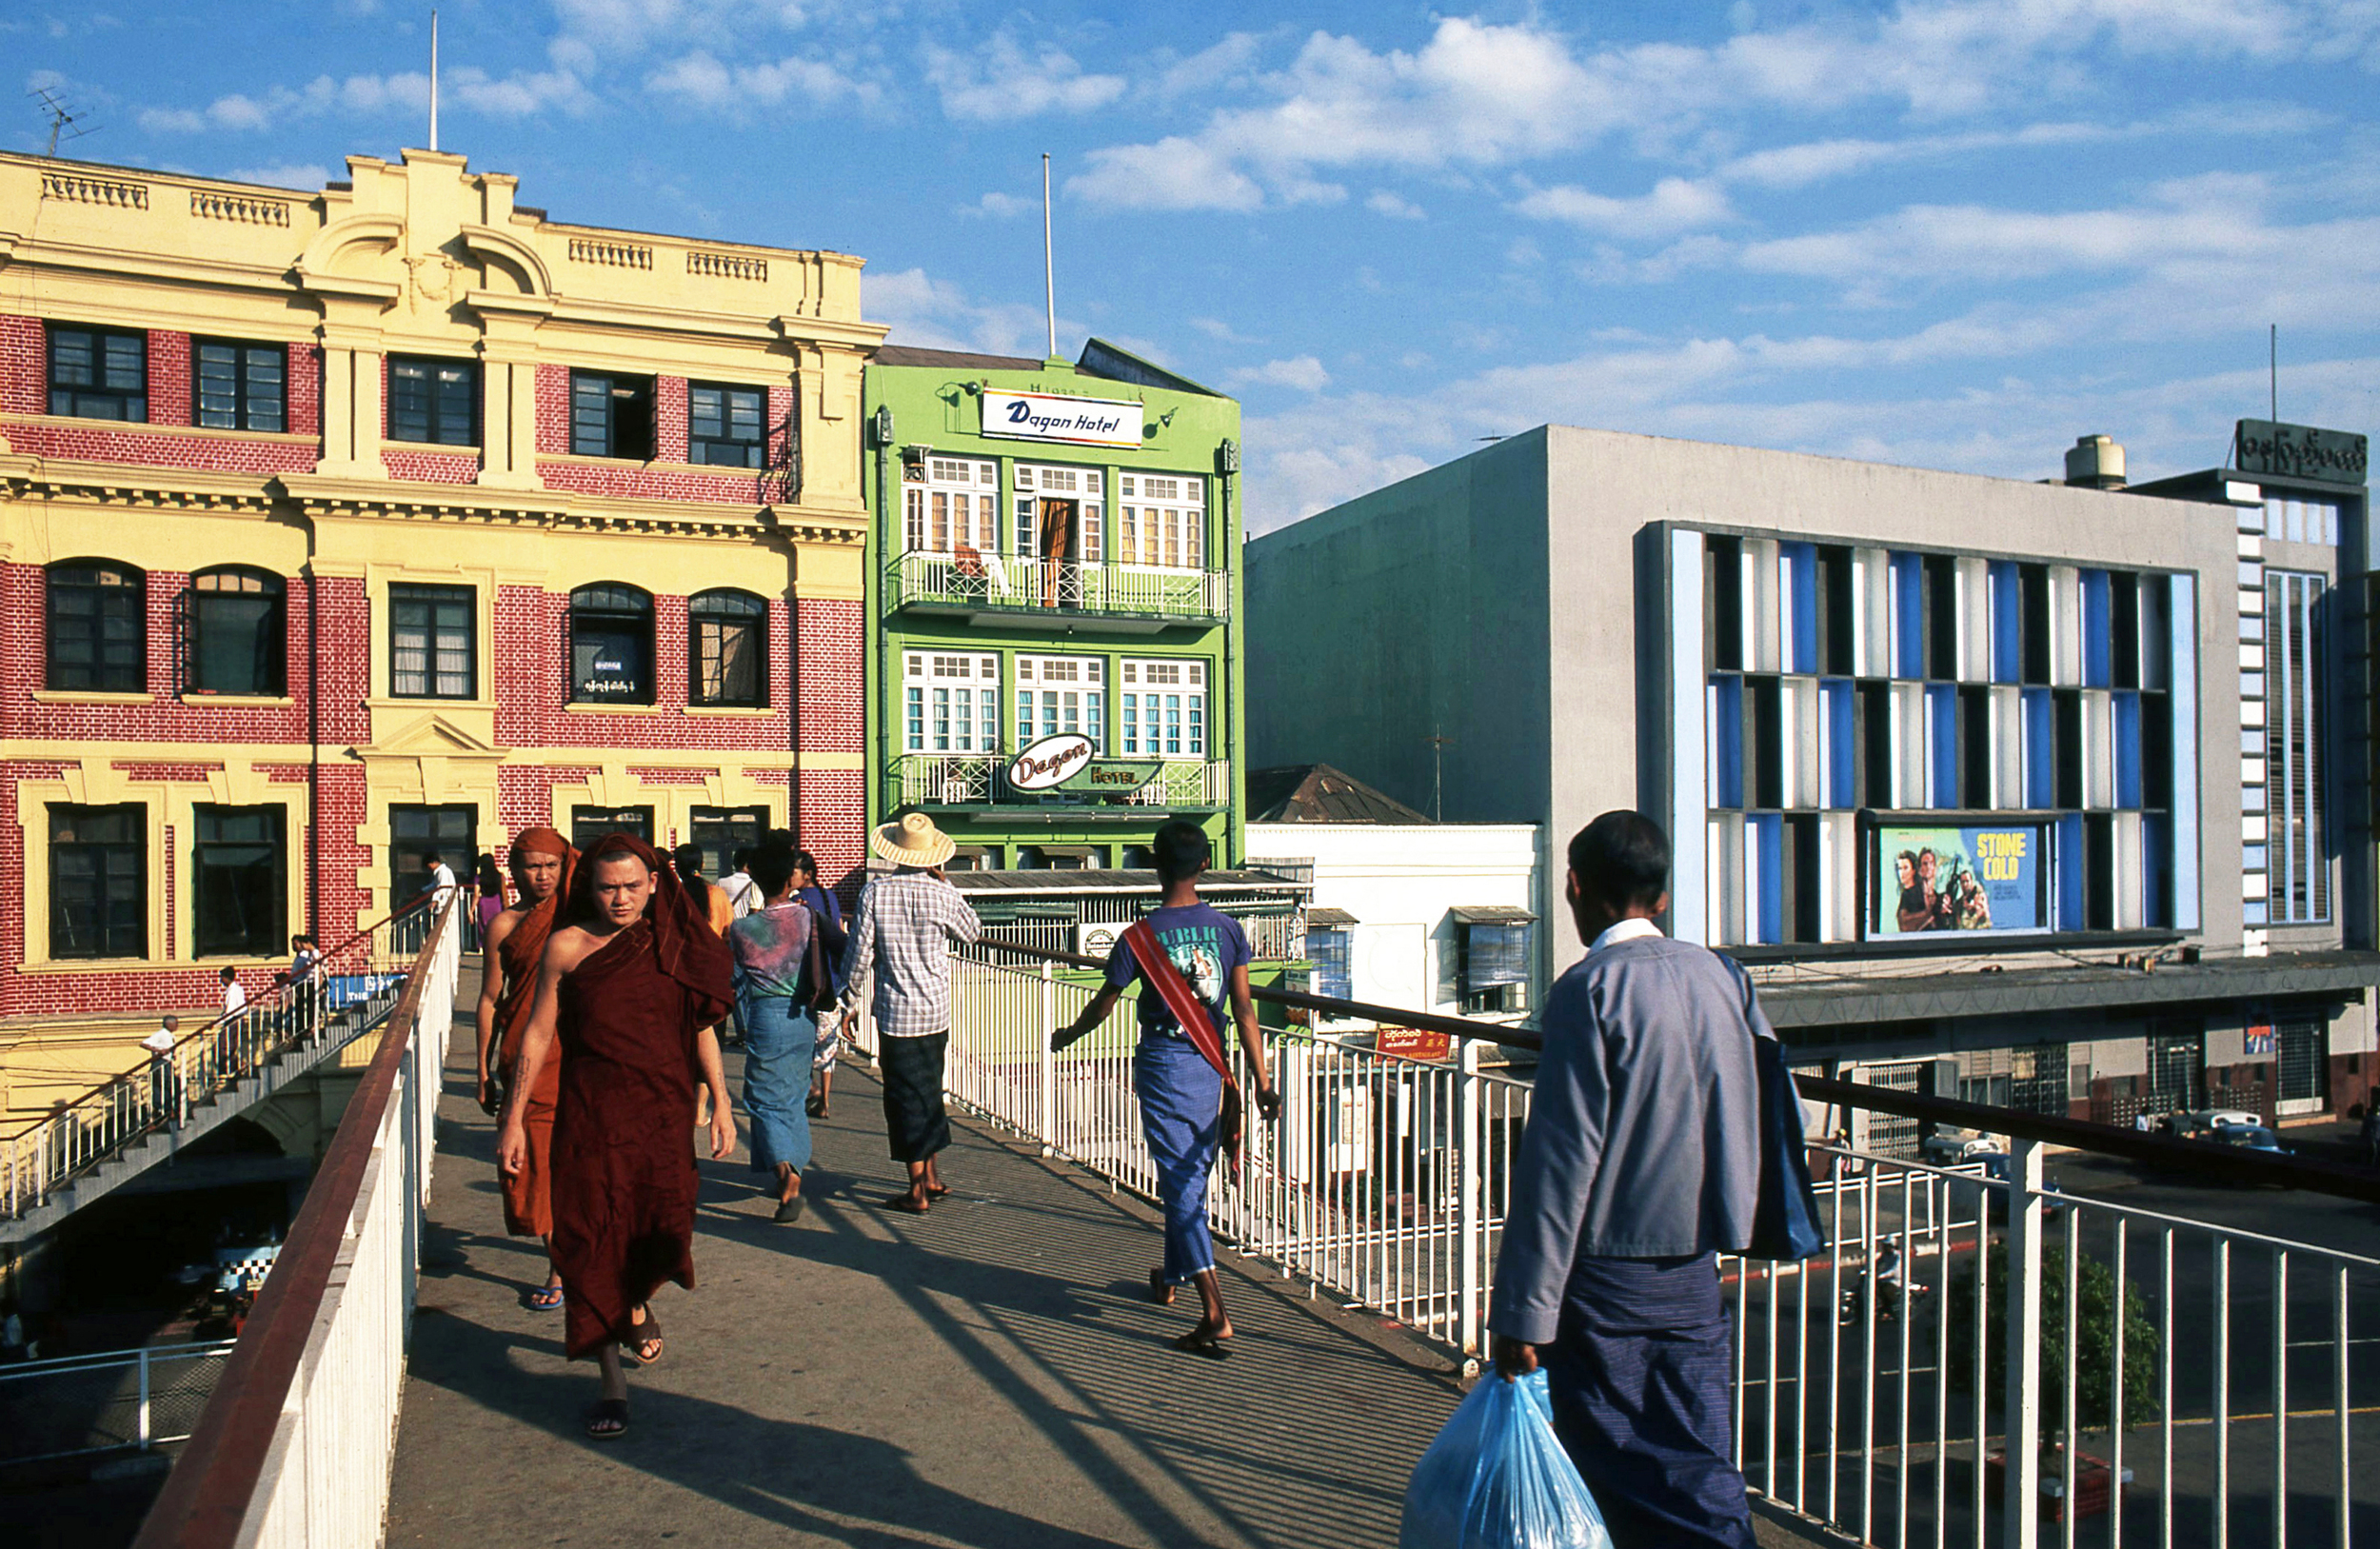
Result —
<path fill-rule="evenodd" d="M 923 1216 L 950 1192 L 935 1154 L 950 1144 L 942 1061 L 950 1054 L 950 949 L 983 935 L 983 921 L 942 876 L 954 845 L 923 811 L 869 835 L 869 854 L 892 861 L 859 892 L 843 959 L 847 1006 L 873 980 L 878 1061 L 885 1083 L 885 1137 L 909 1168 L 909 1190 L 885 1199 Z"/>

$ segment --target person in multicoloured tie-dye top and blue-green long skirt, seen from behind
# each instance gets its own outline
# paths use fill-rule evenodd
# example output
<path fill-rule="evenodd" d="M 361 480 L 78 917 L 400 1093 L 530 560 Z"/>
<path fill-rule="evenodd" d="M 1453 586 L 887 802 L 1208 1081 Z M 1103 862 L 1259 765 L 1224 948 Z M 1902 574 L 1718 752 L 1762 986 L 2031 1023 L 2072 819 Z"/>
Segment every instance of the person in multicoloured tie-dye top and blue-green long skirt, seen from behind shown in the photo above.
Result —
<path fill-rule="evenodd" d="M 793 854 L 769 847 L 752 861 L 764 907 L 728 926 L 735 1006 L 745 1026 L 745 1109 L 752 1114 L 752 1171 L 776 1173 L 776 1218 L 802 1218 L 809 1166 L 809 1056 L 819 1047 L 812 1004 L 823 954 L 809 907 L 793 895 Z"/>

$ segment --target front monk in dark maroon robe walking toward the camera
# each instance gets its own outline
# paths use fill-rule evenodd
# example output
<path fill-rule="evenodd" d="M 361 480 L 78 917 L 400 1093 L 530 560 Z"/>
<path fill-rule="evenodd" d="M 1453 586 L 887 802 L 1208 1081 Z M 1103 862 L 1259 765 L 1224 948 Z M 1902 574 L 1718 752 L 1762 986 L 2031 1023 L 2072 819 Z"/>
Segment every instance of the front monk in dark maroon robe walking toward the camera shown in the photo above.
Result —
<path fill-rule="evenodd" d="M 712 1095 L 712 1156 L 735 1152 L 735 1116 L 714 1028 L 733 995 L 728 947 L 671 866 L 614 833 L 585 852 L 562 928 L 545 942 L 497 1156 L 528 1166 L 528 1092 L 562 1049 L 555 1106 L 555 1268 L 564 1349 L 602 1363 L 588 1435 L 628 1430 L 626 1349 L 659 1359 L 645 1302 L 664 1280 L 695 1285 L 695 1090 Z"/>

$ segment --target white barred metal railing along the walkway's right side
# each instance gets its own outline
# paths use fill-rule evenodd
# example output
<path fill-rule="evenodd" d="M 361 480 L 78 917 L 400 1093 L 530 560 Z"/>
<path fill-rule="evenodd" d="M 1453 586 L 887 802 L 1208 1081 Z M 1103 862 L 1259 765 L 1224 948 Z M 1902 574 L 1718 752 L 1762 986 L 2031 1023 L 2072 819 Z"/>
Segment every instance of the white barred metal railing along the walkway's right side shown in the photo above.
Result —
<path fill-rule="evenodd" d="M 1154 1194 L 1130 995 L 1050 1054 L 1090 976 L 990 942 L 954 976 L 952 1099 Z M 1530 1085 L 1478 1068 L 1480 1045 L 1271 1047 L 1283 1116 L 1250 1123 L 1238 1178 L 1216 1168 L 1214 1230 L 1476 1356 Z M 2042 1154 L 2013 1142 L 1994 1180 L 1814 1147 L 1830 1247 L 1721 1261 L 1747 1485 L 1892 1549 L 2349 1544 L 2380 1516 L 2380 1475 L 2351 1470 L 2380 1259 L 2061 1194 Z"/>

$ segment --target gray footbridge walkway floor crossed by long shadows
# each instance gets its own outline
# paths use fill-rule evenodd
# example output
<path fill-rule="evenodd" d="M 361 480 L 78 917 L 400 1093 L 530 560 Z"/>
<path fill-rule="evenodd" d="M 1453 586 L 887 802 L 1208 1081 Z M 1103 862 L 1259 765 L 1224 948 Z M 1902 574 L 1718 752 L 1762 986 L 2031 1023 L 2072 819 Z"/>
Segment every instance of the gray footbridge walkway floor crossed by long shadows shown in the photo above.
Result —
<path fill-rule="evenodd" d="M 631 1375 L 631 1435 L 595 1444 L 593 1366 L 519 1304 L 540 1254 L 502 1235 L 466 1085 L 450 1061 L 393 1544 L 1376 1547 L 1459 1397 L 1416 1344 L 1228 1263 L 1235 1356 L 1173 1352 L 1195 1299 L 1140 1294 L 1152 1214 L 969 1125 L 957 1194 L 873 1206 L 897 1168 L 847 1071 L 802 1225 L 702 1164 L 700 1290 L 662 1292 L 669 1349 Z"/>

